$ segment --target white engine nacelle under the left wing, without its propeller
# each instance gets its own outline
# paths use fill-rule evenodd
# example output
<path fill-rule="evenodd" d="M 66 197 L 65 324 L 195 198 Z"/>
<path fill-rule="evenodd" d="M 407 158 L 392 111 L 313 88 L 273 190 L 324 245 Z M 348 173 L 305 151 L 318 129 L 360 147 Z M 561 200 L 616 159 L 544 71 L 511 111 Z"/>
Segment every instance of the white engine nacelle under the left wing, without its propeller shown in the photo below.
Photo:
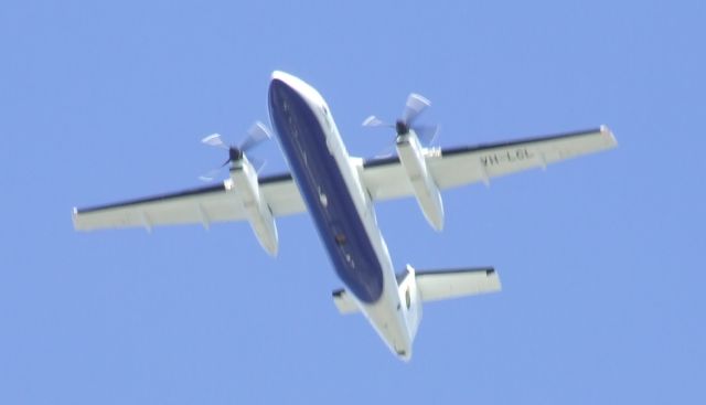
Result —
<path fill-rule="evenodd" d="M 257 171 L 245 156 L 233 163 L 231 180 L 229 191 L 237 193 L 257 241 L 268 254 L 276 256 L 279 242 L 275 217 L 260 194 Z"/>

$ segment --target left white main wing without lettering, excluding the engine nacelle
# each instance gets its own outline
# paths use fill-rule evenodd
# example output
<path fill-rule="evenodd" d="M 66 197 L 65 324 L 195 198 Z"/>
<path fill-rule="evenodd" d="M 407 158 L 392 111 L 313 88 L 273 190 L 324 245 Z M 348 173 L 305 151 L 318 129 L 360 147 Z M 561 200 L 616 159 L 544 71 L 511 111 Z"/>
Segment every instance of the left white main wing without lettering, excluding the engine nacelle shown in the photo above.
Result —
<path fill-rule="evenodd" d="M 306 211 L 291 175 L 259 180 L 260 192 L 275 216 Z M 74 227 L 81 231 L 158 225 L 244 221 L 246 213 L 232 181 L 181 192 L 86 209 L 74 209 Z"/>

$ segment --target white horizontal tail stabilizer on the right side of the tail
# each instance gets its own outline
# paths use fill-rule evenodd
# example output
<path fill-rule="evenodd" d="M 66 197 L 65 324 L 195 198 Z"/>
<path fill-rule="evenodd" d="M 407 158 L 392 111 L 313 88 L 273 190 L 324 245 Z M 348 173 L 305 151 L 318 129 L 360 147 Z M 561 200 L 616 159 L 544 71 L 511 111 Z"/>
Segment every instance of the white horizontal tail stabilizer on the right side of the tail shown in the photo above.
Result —
<path fill-rule="evenodd" d="M 425 302 L 500 291 L 500 277 L 492 267 L 416 271 Z"/>

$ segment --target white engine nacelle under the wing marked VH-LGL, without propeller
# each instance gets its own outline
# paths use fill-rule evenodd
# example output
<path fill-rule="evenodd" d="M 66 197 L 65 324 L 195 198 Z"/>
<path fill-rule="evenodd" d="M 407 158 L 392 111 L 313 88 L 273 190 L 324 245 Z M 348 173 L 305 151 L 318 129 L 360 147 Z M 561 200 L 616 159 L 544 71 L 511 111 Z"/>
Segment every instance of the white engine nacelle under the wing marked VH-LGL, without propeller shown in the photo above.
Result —
<path fill-rule="evenodd" d="M 443 203 L 436 182 L 427 170 L 424 149 L 414 130 L 397 136 L 397 154 L 417 198 L 417 203 L 436 231 L 443 228 Z"/>

